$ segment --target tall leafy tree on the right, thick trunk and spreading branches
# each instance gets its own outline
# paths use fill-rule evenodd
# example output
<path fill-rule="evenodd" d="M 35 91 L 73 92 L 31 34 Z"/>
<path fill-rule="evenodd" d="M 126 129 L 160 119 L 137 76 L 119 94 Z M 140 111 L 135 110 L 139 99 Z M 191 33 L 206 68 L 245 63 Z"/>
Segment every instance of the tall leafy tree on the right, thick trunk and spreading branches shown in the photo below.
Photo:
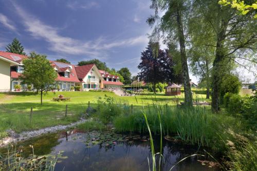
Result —
<path fill-rule="evenodd" d="M 228 70 L 241 66 L 251 72 L 252 68 L 256 68 L 257 25 L 254 11 L 241 15 L 230 6 L 219 5 L 218 1 L 195 0 L 192 13 L 197 16 L 194 22 L 203 28 L 210 28 L 210 36 L 205 39 L 203 37 L 202 41 L 209 42 L 207 45 L 215 49 L 212 64 L 212 110 L 217 112 L 222 98 L 222 80 Z M 215 38 L 214 41 L 211 36 Z"/>

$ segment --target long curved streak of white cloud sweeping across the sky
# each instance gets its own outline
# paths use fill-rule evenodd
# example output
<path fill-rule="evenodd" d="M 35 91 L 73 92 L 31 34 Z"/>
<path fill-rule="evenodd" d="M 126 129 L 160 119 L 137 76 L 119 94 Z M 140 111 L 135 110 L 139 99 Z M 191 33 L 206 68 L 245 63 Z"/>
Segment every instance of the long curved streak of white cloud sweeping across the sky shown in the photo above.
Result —
<path fill-rule="evenodd" d="M 120 46 L 133 46 L 136 44 L 145 44 L 148 42 L 146 35 L 140 35 L 123 40 L 106 41 L 103 37 L 94 41 L 80 41 L 71 37 L 62 36 L 58 33 L 58 28 L 49 26 L 26 13 L 20 6 L 13 3 L 17 14 L 22 18 L 22 23 L 27 28 L 27 31 L 35 39 L 44 39 L 50 46 L 49 49 L 54 52 L 61 52 L 65 54 L 88 54 L 90 56 L 97 56 L 101 58 L 106 56 L 106 50 Z"/>

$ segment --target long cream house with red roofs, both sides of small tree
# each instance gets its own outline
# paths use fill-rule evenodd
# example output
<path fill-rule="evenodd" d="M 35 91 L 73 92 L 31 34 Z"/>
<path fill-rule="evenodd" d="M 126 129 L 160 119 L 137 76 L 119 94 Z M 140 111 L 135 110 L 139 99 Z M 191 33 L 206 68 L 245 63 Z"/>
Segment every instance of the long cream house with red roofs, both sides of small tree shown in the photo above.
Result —
<path fill-rule="evenodd" d="M 16 84 L 26 91 L 27 85 L 19 79 L 24 71 L 22 61 L 25 55 L 0 51 L 0 91 L 15 91 Z M 70 91 L 71 87 L 80 86 L 81 91 L 90 89 L 120 89 L 123 85 L 117 75 L 98 70 L 95 64 L 76 66 L 72 64 L 50 61 L 57 72 L 57 90 Z"/>

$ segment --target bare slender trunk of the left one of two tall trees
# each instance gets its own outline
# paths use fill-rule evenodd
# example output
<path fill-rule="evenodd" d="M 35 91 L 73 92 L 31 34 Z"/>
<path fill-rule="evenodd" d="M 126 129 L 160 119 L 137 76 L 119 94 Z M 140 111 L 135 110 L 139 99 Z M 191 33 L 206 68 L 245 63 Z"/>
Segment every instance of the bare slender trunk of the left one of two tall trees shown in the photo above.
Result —
<path fill-rule="evenodd" d="M 177 34 L 178 34 L 179 46 L 180 46 L 183 86 L 185 90 L 185 105 L 193 106 L 192 91 L 191 91 L 190 80 L 189 80 L 188 63 L 187 63 L 187 55 L 186 55 L 186 47 L 185 47 L 185 37 L 183 33 L 183 24 L 182 24 L 179 7 L 177 7 L 176 10 L 177 10 L 177 32 L 178 32 Z"/>

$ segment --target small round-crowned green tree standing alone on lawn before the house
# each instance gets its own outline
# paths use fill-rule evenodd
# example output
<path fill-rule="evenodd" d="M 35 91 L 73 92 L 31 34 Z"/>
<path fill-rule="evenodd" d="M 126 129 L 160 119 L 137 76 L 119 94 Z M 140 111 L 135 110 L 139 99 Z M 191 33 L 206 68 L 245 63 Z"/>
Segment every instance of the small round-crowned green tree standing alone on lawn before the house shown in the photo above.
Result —
<path fill-rule="evenodd" d="M 33 87 L 41 92 L 41 104 L 43 91 L 51 90 L 56 84 L 57 73 L 46 59 L 46 55 L 30 53 L 30 58 L 23 61 L 24 72 L 21 79 L 25 83 L 33 84 Z"/>

